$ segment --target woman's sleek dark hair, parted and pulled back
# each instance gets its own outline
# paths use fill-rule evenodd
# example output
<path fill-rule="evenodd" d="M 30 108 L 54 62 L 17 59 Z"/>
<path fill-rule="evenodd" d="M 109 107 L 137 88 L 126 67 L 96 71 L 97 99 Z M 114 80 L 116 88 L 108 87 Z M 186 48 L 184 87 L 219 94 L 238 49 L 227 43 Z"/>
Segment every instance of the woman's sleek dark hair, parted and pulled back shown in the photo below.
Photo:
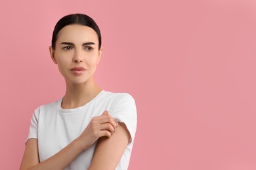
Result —
<path fill-rule="evenodd" d="M 60 20 L 58 20 L 57 24 L 54 27 L 53 30 L 53 38 L 52 38 L 52 47 L 55 49 L 55 44 L 57 40 L 57 35 L 60 29 L 65 27 L 66 25 L 72 25 L 72 24 L 79 24 L 79 25 L 85 25 L 87 27 L 91 27 L 93 30 L 95 30 L 96 34 L 98 35 L 98 49 L 101 47 L 101 35 L 100 35 L 100 28 L 96 24 L 96 22 L 91 18 L 90 16 L 87 16 L 85 14 L 70 14 L 67 16 L 64 16 Z"/>

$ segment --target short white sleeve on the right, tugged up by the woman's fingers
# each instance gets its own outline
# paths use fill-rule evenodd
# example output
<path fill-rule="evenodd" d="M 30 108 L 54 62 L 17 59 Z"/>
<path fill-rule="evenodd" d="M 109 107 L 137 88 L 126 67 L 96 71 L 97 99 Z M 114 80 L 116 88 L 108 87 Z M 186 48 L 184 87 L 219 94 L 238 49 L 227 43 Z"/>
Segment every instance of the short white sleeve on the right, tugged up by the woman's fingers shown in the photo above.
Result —
<path fill-rule="evenodd" d="M 116 118 L 117 122 L 125 124 L 131 135 L 130 142 L 133 142 L 137 129 L 137 109 L 133 97 L 128 93 L 117 93 L 110 115 Z"/>

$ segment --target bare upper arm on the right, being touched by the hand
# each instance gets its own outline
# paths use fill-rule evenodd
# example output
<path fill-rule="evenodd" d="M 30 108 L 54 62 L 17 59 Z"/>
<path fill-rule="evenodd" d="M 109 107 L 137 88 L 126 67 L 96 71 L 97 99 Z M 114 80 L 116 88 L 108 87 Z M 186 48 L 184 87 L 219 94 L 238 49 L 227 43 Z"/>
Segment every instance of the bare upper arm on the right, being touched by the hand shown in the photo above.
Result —
<path fill-rule="evenodd" d="M 125 124 L 119 123 L 111 137 L 98 139 L 90 169 L 116 169 L 130 138 Z"/>

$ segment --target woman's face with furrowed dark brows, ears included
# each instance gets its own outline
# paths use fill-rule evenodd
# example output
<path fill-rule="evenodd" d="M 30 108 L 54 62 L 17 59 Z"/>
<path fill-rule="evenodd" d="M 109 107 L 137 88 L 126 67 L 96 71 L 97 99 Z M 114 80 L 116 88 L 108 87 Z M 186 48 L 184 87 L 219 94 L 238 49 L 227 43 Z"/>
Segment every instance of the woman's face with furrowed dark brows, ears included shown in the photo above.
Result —
<path fill-rule="evenodd" d="M 91 27 L 67 25 L 58 32 L 50 52 L 66 82 L 81 84 L 93 77 L 102 48 L 98 50 L 98 36 Z"/>

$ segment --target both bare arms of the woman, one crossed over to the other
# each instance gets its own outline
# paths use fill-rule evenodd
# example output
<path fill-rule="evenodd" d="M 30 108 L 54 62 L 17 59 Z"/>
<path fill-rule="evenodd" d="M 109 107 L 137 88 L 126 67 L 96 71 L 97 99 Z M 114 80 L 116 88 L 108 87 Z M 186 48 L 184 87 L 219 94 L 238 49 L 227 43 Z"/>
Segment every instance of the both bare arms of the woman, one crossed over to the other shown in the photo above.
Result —
<path fill-rule="evenodd" d="M 20 170 L 64 169 L 96 140 L 98 143 L 89 169 L 116 169 L 131 136 L 125 124 L 119 123 L 117 127 L 115 121 L 107 112 L 93 118 L 80 137 L 42 162 L 39 162 L 37 139 L 29 139 Z"/>

